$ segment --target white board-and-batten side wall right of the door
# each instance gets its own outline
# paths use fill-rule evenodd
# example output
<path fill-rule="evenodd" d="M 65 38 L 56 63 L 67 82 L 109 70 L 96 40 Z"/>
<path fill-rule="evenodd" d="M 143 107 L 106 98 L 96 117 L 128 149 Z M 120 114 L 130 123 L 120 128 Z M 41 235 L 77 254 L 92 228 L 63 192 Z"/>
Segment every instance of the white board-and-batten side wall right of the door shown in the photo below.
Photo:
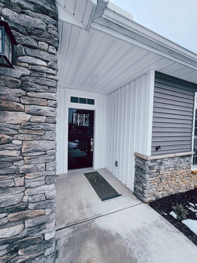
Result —
<path fill-rule="evenodd" d="M 107 98 L 106 168 L 131 190 L 134 153 L 151 155 L 154 77 L 149 70 Z"/>

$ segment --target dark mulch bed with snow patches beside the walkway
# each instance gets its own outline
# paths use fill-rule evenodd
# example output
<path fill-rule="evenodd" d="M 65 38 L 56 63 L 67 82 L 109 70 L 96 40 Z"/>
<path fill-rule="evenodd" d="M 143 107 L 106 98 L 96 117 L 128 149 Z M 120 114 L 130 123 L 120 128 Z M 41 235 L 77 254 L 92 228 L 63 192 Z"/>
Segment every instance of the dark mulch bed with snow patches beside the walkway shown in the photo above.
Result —
<path fill-rule="evenodd" d="M 194 232 L 192 232 L 185 224 L 183 224 L 181 220 L 175 219 L 170 215 L 170 212 L 173 211 L 172 206 L 176 206 L 176 204 L 182 204 L 183 207 L 188 211 L 187 219 L 197 220 L 196 213 L 188 209 L 188 207 L 192 207 L 189 203 L 193 203 L 194 205 L 197 204 L 197 188 L 188 192 L 163 197 L 149 203 L 149 205 L 167 221 L 173 224 L 175 228 L 179 229 L 180 232 L 187 236 L 187 238 L 197 246 L 197 236 L 194 234 Z M 194 209 L 197 210 L 197 206 L 195 206 Z M 166 213 L 167 215 L 164 215 L 163 213 Z"/>

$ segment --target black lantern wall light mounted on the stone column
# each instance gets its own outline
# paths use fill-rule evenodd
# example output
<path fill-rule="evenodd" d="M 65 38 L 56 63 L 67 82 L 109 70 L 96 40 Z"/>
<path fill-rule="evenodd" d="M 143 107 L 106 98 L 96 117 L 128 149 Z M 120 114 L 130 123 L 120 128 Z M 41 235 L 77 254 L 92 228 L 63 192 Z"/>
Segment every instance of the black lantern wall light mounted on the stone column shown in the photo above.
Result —
<path fill-rule="evenodd" d="M 8 23 L 0 18 L 0 67 L 14 68 L 17 43 Z"/>

